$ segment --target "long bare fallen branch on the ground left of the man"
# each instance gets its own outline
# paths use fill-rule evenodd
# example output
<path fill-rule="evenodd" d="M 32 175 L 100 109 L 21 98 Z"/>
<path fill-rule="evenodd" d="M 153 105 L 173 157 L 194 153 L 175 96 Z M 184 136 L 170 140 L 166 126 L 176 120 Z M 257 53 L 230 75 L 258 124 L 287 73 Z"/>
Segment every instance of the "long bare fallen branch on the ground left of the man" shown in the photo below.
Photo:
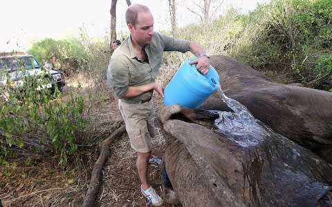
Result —
<path fill-rule="evenodd" d="M 93 166 L 89 189 L 86 192 L 86 196 L 84 198 L 83 207 L 95 206 L 95 197 L 98 193 L 100 187 L 100 174 L 102 172 L 102 167 L 104 166 L 107 157 L 109 156 L 109 145 L 117 138 L 120 137 L 126 128 L 124 125 L 120 126 L 113 134 L 111 134 L 107 139 L 102 141 L 102 146 L 100 150 L 100 155 L 95 161 L 95 165 Z"/>

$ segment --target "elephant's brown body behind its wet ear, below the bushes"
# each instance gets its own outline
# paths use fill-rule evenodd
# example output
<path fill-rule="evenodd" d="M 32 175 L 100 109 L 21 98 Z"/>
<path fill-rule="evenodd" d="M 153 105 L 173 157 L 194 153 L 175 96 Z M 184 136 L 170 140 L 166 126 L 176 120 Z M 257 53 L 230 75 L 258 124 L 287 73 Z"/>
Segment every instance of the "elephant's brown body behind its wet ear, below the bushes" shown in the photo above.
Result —
<path fill-rule="evenodd" d="M 273 83 L 228 56 L 211 56 L 210 63 L 228 97 L 275 132 L 332 163 L 332 92 Z M 230 110 L 216 93 L 199 108 Z"/>

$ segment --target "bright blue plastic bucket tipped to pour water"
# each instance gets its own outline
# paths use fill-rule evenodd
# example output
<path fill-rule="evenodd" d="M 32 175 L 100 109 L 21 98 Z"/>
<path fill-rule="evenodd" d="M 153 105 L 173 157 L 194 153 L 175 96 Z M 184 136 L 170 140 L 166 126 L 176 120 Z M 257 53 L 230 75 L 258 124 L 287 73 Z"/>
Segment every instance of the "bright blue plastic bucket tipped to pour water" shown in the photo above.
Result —
<path fill-rule="evenodd" d="M 167 84 L 164 90 L 166 106 L 178 103 L 186 108 L 196 108 L 219 88 L 216 70 L 210 66 L 208 74 L 202 75 L 196 69 L 196 64 L 189 64 L 192 60 L 194 58 L 182 63 Z"/>

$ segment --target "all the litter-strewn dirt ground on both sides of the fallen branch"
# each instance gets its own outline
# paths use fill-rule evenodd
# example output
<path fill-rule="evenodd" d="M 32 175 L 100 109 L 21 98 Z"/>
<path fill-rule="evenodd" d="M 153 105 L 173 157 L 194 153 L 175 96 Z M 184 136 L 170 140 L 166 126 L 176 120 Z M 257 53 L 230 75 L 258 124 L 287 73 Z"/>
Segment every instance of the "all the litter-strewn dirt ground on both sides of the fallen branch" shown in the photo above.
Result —
<path fill-rule="evenodd" d="M 66 86 L 70 87 L 70 86 Z M 66 89 L 68 90 L 68 88 Z M 68 91 L 64 93 L 68 94 Z M 66 96 L 64 97 L 66 99 Z M 95 115 L 100 120 L 100 135 L 110 135 L 122 117 L 118 101 L 102 99 Z M 163 100 L 154 94 L 156 112 L 163 107 Z M 165 141 L 160 122 L 156 119 L 156 137 L 152 139 L 153 154 L 162 157 Z M 103 139 L 105 139 L 104 137 Z M 100 152 L 99 139 L 91 148 L 80 152 L 82 159 L 66 169 L 59 168 L 56 160 L 39 159 L 31 164 L 26 159 L 16 159 L 11 166 L 0 166 L 0 200 L 3 206 L 82 206 L 89 187 L 91 172 Z M 95 206 L 150 206 L 140 193 L 136 170 L 136 152 L 130 148 L 127 133 L 110 146 L 109 157 L 102 170 L 100 191 Z M 161 194 L 160 167 L 149 166 L 149 178 Z M 1 204 L 0 204 L 1 206 Z M 163 206 L 174 206 L 164 204 Z"/>

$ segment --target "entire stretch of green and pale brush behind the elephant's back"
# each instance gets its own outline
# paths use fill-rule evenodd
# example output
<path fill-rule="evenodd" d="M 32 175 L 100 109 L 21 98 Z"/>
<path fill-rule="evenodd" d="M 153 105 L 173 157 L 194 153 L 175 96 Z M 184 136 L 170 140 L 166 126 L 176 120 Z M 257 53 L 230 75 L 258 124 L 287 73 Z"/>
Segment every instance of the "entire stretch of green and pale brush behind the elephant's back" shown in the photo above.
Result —
<path fill-rule="evenodd" d="M 262 72 L 331 90 L 331 14 L 331 1 L 274 0 L 248 14 L 230 9 L 208 25 L 178 29 L 176 37 L 202 43 L 210 55 L 229 55 Z"/>

